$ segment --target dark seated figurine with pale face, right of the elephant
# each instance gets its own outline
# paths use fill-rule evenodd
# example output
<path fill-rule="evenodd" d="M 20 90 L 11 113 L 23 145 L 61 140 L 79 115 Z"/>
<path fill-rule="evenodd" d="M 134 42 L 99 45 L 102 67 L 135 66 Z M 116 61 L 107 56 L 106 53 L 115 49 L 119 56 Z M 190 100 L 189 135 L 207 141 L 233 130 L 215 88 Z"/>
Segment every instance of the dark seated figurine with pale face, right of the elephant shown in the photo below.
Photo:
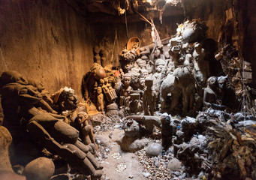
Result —
<path fill-rule="evenodd" d="M 212 107 L 212 104 L 221 104 L 218 100 L 218 94 L 221 90 L 218 87 L 218 78 L 209 77 L 207 87 L 203 89 L 203 105 L 204 107 Z"/>

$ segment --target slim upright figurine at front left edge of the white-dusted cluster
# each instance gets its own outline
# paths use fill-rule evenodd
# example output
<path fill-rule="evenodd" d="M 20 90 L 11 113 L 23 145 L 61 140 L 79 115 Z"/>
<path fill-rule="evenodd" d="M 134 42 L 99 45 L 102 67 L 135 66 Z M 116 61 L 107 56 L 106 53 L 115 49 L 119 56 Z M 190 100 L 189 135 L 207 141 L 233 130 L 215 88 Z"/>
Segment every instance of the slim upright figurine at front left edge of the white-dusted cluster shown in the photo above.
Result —
<path fill-rule="evenodd" d="M 130 84 L 131 84 L 131 74 L 125 74 L 124 79 L 122 80 L 122 87 L 120 89 L 119 105 L 121 109 L 123 107 L 125 108 L 129 107 L 130 92 L 132 91 Z"/>

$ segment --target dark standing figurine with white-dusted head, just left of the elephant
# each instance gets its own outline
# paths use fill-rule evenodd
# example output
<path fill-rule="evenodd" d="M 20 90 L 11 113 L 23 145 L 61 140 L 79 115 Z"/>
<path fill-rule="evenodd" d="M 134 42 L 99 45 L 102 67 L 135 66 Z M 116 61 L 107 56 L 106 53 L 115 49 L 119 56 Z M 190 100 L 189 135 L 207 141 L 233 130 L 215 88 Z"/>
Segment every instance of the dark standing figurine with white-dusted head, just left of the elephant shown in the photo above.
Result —
<path fill-rule="evenodd" d="M 146 90 L 143 94 L 144 115 L 154 115 L 155 90 L 153 89 L 153 80 L 151 77 L 145 79 Z"/>

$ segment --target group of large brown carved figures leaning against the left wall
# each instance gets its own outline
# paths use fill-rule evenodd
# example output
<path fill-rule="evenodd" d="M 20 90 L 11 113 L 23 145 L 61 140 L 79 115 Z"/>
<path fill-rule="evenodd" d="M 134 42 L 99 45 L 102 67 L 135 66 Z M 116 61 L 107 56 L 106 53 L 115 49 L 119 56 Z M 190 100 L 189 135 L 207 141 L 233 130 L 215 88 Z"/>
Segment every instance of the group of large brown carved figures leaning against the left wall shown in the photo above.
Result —
<path fill-rule="evenodd" d="M 41 83 L 26 80 L 17 71 L 4 72 L 0 82 L 3 125 L 14 140 L 21 138 L 17 134 L 28 133 L 29 139 L 59 155 L 79 172 L 101 177 L 103 167 L 94 155 L 98 147 L 87 121 L 87 109 L 79 104 L 73 89 L 65 87 L 50 96 Z M 65 117 L 62 112 L 67 110 L 71 114 Z"/>

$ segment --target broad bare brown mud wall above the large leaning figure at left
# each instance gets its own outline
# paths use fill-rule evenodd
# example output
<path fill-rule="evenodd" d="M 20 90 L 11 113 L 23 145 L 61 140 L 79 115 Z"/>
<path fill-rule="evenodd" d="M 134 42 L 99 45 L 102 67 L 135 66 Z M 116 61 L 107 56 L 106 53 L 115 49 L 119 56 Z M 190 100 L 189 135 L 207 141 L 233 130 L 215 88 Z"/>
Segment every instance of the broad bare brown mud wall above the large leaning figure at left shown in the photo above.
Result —
<path fill-rule="evenodd" d="M 19 71 L 51 93 L 80 92 L 93 62 L 93 30 L 66 1 L 0 1 L 0 71 Z"/>

